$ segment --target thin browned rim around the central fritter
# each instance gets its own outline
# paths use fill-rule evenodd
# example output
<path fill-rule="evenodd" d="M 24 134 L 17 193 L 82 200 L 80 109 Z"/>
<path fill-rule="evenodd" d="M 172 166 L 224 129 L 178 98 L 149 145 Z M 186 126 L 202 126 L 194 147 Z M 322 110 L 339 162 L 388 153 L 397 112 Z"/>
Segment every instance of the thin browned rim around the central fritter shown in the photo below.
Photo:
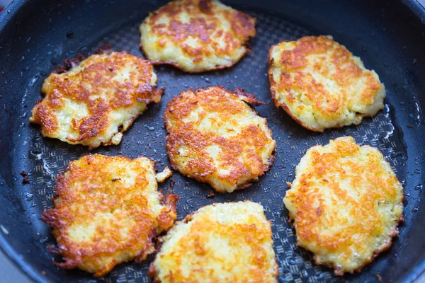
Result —
<path fill-rule="evenodd" d="M 170 154 L 169 154 L 169 152 L 170 152 L 169 136 L 171 134 L 171 129 L 169 129 L 169 127 L 168 127 L 168 125 L 166 123 L 166 112 L 169 112 L 170 105 L 172 103 L 174 103 L 175 100 L 179 99 L 181 97 L 182 93 L 184 93 L 186 91 L 192 91 L 195 94 L 195 96 L 197 96 L 199 91 L 205 91 L 208 88 L 212 88 L 212 87 L 219 87 L 219 88 L 222 88 L 224 91 L 227 91 L 227 89 L 224 86 L 205 86 L 205 87 L 200 87 L 200 88 L 197 88 L 197 89 L 189 88 L 188 90 L 181 91 L 181 93 L 179 93 L 178 96 L 174 96 L 174 98 L 172 98 L 169 101 L 169 103 L 167 103 L 166 109 L 164 111 L 163 121 L 164 121 L 164 124 L 165 124 L 166 133 L 167 133 L 167 136 L 165 137 L 165 140 L 166 140 L 166 154 L 167 154 L 168 157 L 170 156 Z M 231 92 L 231 91 L 228 91 L 228 92 Z M 246 103 L 246 104 L 253 104 L 253 105 L 265 105 L 265 104 L 267 104 L 267 103 L 263 103 L 263 102 L 257 100 L 254 95 L 249 94 L 249 93 L 246 93 L 243 88 L 235 88 L 233 93 L 235 95 L 237 95 L 237 96 L 242 96 L 243 98 L 241 98 L 241 100 L 244 103 Z M 249 109 L 251 111 L 254 111 L 256 113 L 256 115 L 258 115 L 259 117 L 261 117 L 254 108 L 249 107 Z M 263 119 L 266 120 L 266 127 L 268 129 L 268 132 L 270 133 L 271 139 L 273 139 L 273 132 L 271 132 L 271 129 L 268 127 L 267 119 L 264 118 L 264 117 L 261 117 L 261 118 L 263 118 Z M 258 178 L 261 177 L 262 175 L 264 175 L 264 173 L 266 173 L 270 169 L 271 165 L 273 164 L 273 162 L 274 162 L 274 160 L 276 158 L 277 152 L 278 152 L 278 149 L 277 149 L 277 146 L 275 145 L 275 148 L 273 149 L 273 152 L 271 154 L 271 157 L 268 158 L 268 163 L 265 165 L 265 168 L 264 168 L 263 172 L 261 174 L 259 174 L 257 176 L 257 180 L 254 180 L 254 181 L 258 181 Z M 175 171 L 179 171 L 179 168 L 176 165 L 174 165 L 174 163 L 171 162 L 171 159 L 170 158 L 169 158 L 169 161 L 170 161 L 171 168 L 173 168 L 173 170 L 175 170 Z M 179 172 L 181 173 L 181 171 L 179 171 Z M 198 180 L 198 178 L 191 177 L 188 174 L 184 174 L 184 173 L 181 173 L 181 174 L 186 175 L 188 178 L 193 178 L 195 180 Z M 206 182 L 202 182 L 200 180 L 198 180 L 198 182 L 200 182 L 200 183 L 206 183 Z M 210 183 L 208 183 L 208 185 L 210 185 L 215 190 L 215 192 L 218 192 L 218 193 L 226 193 L 227 192 L 227 191 L 218 191 L 218 190 L 216 190 L 215 187 L 213 187 Z M 244 183 L 244 184 L 239 184 L 234 190 L 243 190 L 246 187 L 249 187 L 250 185 L 252 185 L 252 182 L 247 182 L 247 183 Z"/>

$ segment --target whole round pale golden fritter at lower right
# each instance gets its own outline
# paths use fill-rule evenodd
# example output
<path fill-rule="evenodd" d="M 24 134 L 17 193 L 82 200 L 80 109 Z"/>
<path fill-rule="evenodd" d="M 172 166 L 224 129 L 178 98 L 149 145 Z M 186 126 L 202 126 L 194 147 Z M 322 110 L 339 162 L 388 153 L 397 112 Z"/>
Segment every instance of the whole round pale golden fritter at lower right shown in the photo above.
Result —
<path fill-rule="evenodd" d="M 343 275 L 390 248 L 403 200 L 403 187 L 380 151 L 340 137 L 307 151 L 283 202 L 297 245 Z"/>

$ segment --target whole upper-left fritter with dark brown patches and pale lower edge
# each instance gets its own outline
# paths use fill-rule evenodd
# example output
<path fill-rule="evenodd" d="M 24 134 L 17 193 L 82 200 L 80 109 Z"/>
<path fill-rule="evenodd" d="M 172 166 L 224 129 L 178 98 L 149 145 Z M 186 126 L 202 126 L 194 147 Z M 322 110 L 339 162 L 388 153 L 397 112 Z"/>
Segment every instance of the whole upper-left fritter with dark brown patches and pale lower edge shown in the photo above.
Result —
<path fill-rule="evenodd" d="M 97 146 L 119 144 L 147 104 L 159 102 L 152 64 L 125 52 L 94 54 L 62 74 L 45 79 L 45 97 L 33 108 L 30 122 L 41 134 Z"/>

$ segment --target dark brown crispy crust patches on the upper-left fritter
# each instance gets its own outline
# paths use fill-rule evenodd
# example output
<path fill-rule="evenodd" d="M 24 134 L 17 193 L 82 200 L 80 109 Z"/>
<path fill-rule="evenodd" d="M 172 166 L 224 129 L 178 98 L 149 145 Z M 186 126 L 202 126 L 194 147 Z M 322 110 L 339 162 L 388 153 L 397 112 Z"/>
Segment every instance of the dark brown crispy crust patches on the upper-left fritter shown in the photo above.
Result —
<path fill-rule="evenodd" d="M 86 60 L 91 60 L 89 57 Z M 67 137 L 71 143 L 82 144 L 84 141 L 94 139 L 104 132 L 108 127 L 108 115 L 113 110 L 130 108 L 136 103 L 157 103 L 161 99 L 163 89 L 157 89 L 150 84 L 153 67 L 149 62 L 125 52 L 109 53 L 108 57 L 90 63 L 83 71 L 77 74 L 69 74 L 69 69 L 81 64 L 81 54 L 75 59 L 65 59 L 64 65 L 50 74 L 42 86 L 45 95 L 40 102 L 36 103 L 31 111 L 33 117 L 30 121 L 41 125 L 42 135 L 55 137 L 60 129 L 57 121 L 57 111 L 64 108 L 64 98 L 84 103 L 89 110 L 89 115 L 83 119 L 72 119 L 72 130 L 79 133 L 77 139 Z M 84 61 L 86 61 L 84 60 Z M 94 60 L 94 59 L 93 59 Z M 131 79 L 125 83 L 111 80 L 117 69 L 132 62 L 132 67 L 137 70 L 133 72 Z M 102 89 L 108 89 L 108 99 L 91 96 L 101 93 Z M 137 118 L 132 117 L 131 123 Z M 125 129 L 119 129 L 123 132 Z M 111 140 L 102 143 L 111 145 Z M 96 146 L 91 146 L 93 149 Z"/>

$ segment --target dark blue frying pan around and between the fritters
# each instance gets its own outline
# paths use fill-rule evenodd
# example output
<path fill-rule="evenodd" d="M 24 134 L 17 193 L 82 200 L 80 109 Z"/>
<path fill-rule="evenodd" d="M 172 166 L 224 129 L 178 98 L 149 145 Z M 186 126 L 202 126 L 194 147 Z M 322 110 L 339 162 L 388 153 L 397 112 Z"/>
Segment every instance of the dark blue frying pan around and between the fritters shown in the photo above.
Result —
<path fill-rule="evenodd" d="M 208 198 L 210 187 L 174 173 L 161 186 L 180 196 L 178 219 L 213 202 L 253 200 L 263 204 L 273 229 L 279 265 L 279 282 L 412 282 L 425 269 L 425 12 L 416 1 L 243 1 L 225 4 L 257 18 L 257 35 L 251 54 L 236 66 L 204 74 L 185 74 L 174 67 L 156 67 L 159 86 L 166 91 L 161 103 L 150 105 L 124 134 L 119 146 L 101 147 L 92 153 L 130 158 L 143 155 L 169 165 L 162 122 L 169 100 L 194 87 L 242 87 L 267 103 L 255 109 L 266 117 L 277 141 L 271 170 L 246 190 Z M 50 227 L 40 221 L 51 207 L 55 177 L 67 163 L 89 154 L 72 146 L 40 137 L 30 125 L 30 109 L 40 98 L 42 81 L 62 59 L 78 52 L 89 55 L 110 44 L 142 56 L 138 25 L 149 11 L 166 1 L 16 0 L 0 15 L 0 246 L 36 282 L 149 282 L 147 267 L 128 262 L 110 275 L 95 279 L 79 270 L 60 270 L 47 252 L 54 244 Z M 322 134 L 303 129 L 271 102 L 268 48 L 282 40 L 304 35 L 333 35 L 368 69 L 375 69 L 387 88 L 385 108 L 361 125 L 327 130 Z M 392 248 L 358 274 L 335 277 L 327 267 L 314 265 L 306 250 L 295 246 L 295 231 L 288 223 L 282 198 L 294 178 L 296 164 L 305 151 L 329 139 L 353 136 L 360 144 L 382 151 L 404 185 L 404 223 Z M 23 184 L 21 171 L 29 173 Z"/>

